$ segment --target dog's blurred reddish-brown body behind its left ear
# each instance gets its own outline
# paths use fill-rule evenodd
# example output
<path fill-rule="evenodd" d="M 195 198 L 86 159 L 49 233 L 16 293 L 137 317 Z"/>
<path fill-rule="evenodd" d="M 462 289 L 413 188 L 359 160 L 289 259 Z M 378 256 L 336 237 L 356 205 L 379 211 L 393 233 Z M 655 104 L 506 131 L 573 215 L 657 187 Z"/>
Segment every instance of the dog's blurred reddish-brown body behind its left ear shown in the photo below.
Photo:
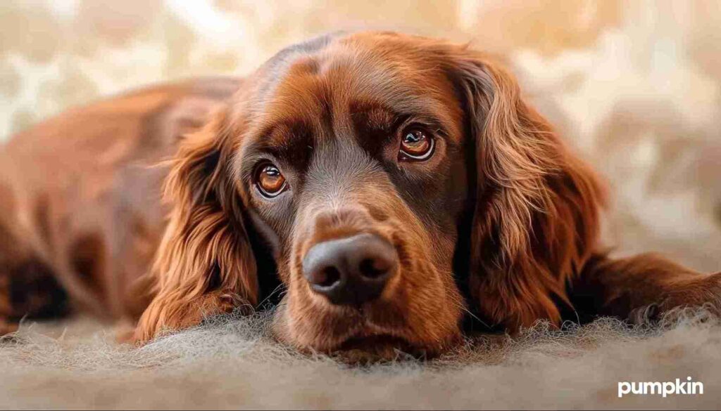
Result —
<path fill-rule="evenodd" d="M 102 317 L 143 310 L 143 290 L 130 286 L 165 224 L 158 163 L 240 84 L 207 78 L 124 94 L 0 148 L 0 335 L 67 302 Z"/>

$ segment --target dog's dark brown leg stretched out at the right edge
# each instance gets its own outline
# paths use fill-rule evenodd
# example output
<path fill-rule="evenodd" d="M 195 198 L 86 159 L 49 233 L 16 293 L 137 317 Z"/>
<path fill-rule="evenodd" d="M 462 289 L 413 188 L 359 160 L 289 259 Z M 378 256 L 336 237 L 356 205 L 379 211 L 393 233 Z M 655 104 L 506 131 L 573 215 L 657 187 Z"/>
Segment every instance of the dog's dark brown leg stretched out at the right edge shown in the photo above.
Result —
<path fill-rule="evenodd" d="M 700 274 L 653 254 L 594 256 L 570 291 L 577 310 L 633 323 L 653 321 L 676 307 L 721 312 L 721 273 Z"/>

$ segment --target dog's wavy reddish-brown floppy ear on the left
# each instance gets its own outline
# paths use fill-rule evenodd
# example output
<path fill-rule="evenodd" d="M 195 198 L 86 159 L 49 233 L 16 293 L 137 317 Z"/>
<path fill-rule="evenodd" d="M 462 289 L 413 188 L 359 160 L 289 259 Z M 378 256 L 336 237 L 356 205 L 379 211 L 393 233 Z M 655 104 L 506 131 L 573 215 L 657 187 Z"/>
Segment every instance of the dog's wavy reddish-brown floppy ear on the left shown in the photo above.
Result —
<path fill-rule="evenodd" d="M 243 224 L 242 200 L 229 178 L 234 147 L 225 113 L 185 137 L 171 161 L 164 197 L 169 223 L 144 283 L 154 297 L 138 321 L 143 343 L 162 330 L 257 303 L 255 258 Z"/>

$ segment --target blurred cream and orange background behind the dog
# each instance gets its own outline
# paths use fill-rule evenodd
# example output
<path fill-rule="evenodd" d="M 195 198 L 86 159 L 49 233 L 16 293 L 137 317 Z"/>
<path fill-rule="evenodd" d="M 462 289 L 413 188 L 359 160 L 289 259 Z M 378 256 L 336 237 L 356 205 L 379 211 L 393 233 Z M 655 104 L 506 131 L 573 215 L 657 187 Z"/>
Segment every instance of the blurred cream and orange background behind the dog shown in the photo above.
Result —
<path fill-rule="evenodd" d="M 606 241 L 721 270 L 717 1 L 2 0 L 0 141 L 146 83 L 243 75 L 340 29 L 508 55 L 528 97 L 606 177 Z"/>

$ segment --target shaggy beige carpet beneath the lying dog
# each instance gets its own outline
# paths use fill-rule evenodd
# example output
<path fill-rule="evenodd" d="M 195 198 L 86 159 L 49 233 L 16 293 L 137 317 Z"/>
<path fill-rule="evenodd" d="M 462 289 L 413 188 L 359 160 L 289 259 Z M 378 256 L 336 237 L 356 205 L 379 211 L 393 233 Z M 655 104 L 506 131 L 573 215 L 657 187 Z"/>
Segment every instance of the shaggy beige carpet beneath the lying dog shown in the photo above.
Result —
<path fill-rule="evenodd" d="M 715 408 L 721 322 L 685 312 L 659 328 L 600 319 L 486 335 L 433 361 L 348 366 L 267 335 L 267 315 L 219 317 L 143 348 L 93 320 L 26 323 L 0 343 L 0 408 Z M 704 393 L 618 397 L 619 381 L 704 384 Z"/>

